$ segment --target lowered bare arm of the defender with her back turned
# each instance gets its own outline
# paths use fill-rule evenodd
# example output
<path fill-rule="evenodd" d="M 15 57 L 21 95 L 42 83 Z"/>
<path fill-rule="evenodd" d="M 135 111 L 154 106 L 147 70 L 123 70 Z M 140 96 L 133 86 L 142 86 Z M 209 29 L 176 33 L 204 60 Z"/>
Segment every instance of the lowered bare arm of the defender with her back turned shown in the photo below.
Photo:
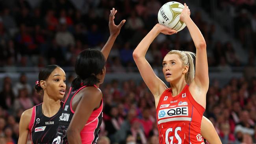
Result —
<path fill-rule="evenodd" d="M 80 92 L 84 92 L 83 96 L 67 129 L 69 144 L 82 144 L 80 132 L 93 110 L 98 107 L 102 100 L 102 92 L 95 87 L 86 87 Z"/>

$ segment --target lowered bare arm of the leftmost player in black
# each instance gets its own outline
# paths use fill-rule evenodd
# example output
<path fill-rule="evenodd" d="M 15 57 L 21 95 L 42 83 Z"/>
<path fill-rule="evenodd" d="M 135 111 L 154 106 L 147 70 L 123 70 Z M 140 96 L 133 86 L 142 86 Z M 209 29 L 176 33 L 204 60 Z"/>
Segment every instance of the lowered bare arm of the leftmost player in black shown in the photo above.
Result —
<path fill-rule="evenodd" d="M 28 140 L 28 133 L 29 133 L 29 123 L 32 116 L 32 108 L 24 111 L 20 117 L 20 124 L 19 124 L 19 140 L 18 144 L 26 144 Z"/>

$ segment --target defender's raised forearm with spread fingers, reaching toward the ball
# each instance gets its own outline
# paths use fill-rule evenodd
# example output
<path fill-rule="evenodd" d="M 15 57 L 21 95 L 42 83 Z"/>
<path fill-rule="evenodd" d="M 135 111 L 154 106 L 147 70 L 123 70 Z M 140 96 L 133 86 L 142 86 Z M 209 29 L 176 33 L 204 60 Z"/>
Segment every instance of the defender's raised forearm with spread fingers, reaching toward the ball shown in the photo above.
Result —
<path fill-rule="evenodd" d="M 117 10 L 115 10 L 115 8 L 113 8 L 110 11 L 109 22 L 108 22 L 110 36 L 108 38 L 108 41 L 106 42 L 106 44 L 104 45 L 104 47 L 101 50 L 101 52 L 104 55 L 106 60 L 108 59 L 109 52 L 110 52 L 110 50 L 115 42 L 115 39 L 119 35 L 120 30 L 125 22 L 125 20 L 122 20 L 122 22 L 118 26 L 115 25 L 115 22 L 114 22 L 115 13 L 117 13 Z"/>

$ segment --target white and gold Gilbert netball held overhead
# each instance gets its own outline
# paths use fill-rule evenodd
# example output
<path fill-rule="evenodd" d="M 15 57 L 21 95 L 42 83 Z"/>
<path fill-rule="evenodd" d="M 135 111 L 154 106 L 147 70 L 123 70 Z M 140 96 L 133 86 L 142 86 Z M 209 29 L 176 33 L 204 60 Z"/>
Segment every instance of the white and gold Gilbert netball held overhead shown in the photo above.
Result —
<path fill-rule="evenodd" d="M 180 20 L 184 5 L 179 2 L 167 2 L 158 11 L 158 22 L 176 31 L 181 31 L 186 24 Z"/>

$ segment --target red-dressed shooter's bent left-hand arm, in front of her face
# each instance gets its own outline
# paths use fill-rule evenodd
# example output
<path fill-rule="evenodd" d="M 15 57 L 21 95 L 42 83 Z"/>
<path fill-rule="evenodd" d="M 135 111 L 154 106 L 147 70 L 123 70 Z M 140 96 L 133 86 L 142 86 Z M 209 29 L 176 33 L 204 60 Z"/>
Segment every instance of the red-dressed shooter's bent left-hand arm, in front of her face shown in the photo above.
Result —
<path fill-rule="evenodd" d="M 159 33 L 164 33 L 167 35 L 171 35 L 173 33 L 177 33 L 175 30 L 171 30 L 165 26 L 160 24 L 156 24 L 154 28 L 142 39 L 142 41 L 138 44 L 133 52 L 134 61 L 139 69 L 139 72 L 145 81 L 148 89 L 152 92 L 155 97 L 155 100 L 159 100 L 160 94 L 167 89 L 167 86 L 160 78 L 156 76 L 148 61 L 145 59 L 145 55 L 147 53 L 148 47 L 152 43 L 152 41 L 158 36 Z M 156 105 L 157 105 L 156 101 Z"/>

